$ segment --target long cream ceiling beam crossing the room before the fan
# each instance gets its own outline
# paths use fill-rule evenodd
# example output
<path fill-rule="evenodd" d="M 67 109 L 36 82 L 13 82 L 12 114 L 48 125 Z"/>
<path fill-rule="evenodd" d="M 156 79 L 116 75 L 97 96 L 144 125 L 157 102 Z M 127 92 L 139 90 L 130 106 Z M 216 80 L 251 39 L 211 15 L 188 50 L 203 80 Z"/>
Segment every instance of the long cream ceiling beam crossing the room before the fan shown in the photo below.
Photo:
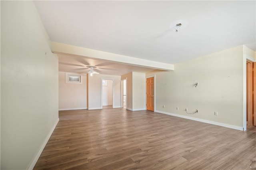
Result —
<path fill-rule="evenodd" d="M 89 49 L 84 47 L 78 47 L 74 45 L 68 45 L 64 43 L 52 42 L 51 50 L 53 53 L 66 54 L 66 55 L 79 55 L 91 59 L 103 59 L 116 63 L 135 65 L 140 67 L 147 67 L 160 70 L 174 70 L 173 64 L 160 63 L 157 61 L 150 61 L 146 59 L 140 59 L 136 57 L 129 57 L 126 55 L 119 55 L 115 53 L 108 53 L 104 51 L 98 51 L 95 49 Z"/>

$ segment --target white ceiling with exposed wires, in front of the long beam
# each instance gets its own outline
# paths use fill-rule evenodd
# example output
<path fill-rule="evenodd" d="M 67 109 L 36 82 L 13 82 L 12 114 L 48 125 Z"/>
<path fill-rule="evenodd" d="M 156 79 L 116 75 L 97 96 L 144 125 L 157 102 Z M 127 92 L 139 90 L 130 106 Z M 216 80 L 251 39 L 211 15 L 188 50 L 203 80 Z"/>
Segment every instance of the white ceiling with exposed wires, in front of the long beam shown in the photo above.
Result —
<path fill-rule="evenodd" d="M 170 64 L 242 44 L 256 51 L 256 1 L 35 1 L 35 4 L 54 42 Z M 176 33 L 173 26 L 178 23 L 182 26 Z M 62 57 L 60 62 L 65 63 Z M 65 70 L 63 67 L 60 66 L 60 71 Z"/>

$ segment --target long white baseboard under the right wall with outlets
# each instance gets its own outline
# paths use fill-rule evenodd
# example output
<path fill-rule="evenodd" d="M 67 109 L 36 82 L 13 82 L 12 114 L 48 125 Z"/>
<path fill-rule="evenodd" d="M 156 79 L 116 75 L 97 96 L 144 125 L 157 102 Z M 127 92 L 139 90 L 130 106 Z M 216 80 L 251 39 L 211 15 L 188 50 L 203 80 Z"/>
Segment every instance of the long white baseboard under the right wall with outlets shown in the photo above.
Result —
<path fill-rule="evenodd" d="M 166 115 L 171 115 L 171 116 L 175 116 L 175 117 L 181 117 L 181 118 L 184 118 L 184 119 L 190 119 L 190 120 L 193 120 L 193 121 L 198 121 L 198 122 L 203 122 L 203 123 L 209 123 L 209 124 L 212 124 L 212 125 L 218 125 L 218 126 L 221 126 L 221 127 L 227 127 L 227 128 L 233 128 L 233 129 L 236 129 L 236 130 L 243 130 L 243 127 L 238 127 L 238 126 L 234 126 L 234 125 L 228 125 L 228 124 L 225 124 L 225 123 L 219 123 L 219 122 L 214 122 L 214 121 L 208 121 L 208 120 L 205 120 L 205 119 L 198 119 L 198 118 L 194 118 L 194 117 L 189 117 L 189 116 L 184 116 L 184 115 L 178 115 L 178 114 L 174 114 L 174 113 L 168 113 L 168 112 L 163 112 L 163 111 L 155 111 L 157 113 L 163 113 L 163 114 L 166 114 Z"/>

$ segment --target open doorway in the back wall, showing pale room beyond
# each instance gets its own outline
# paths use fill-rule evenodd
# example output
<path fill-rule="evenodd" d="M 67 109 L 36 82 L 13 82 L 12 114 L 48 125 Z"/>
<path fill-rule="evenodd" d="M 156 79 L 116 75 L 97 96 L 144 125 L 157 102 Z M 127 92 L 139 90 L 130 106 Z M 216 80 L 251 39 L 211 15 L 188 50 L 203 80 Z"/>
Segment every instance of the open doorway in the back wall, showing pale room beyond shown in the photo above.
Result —
<path fill-rule="evenodd" d="M 113 80 L 102 79 L 102 109 L 113 108 Z"/>

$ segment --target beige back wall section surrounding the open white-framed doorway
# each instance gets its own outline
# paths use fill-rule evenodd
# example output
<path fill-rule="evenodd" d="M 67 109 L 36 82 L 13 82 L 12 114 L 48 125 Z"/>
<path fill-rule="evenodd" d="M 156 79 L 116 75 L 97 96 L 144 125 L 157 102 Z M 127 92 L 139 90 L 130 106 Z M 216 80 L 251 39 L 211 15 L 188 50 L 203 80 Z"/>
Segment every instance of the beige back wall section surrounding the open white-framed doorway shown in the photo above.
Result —
<path fill-rule="evenodd" d="M 88 76 L 88 109 L 101 109 L 102 79 L 113 80 L 113 108 L 121 107 L 121 76 L 94 74 Z"/>

